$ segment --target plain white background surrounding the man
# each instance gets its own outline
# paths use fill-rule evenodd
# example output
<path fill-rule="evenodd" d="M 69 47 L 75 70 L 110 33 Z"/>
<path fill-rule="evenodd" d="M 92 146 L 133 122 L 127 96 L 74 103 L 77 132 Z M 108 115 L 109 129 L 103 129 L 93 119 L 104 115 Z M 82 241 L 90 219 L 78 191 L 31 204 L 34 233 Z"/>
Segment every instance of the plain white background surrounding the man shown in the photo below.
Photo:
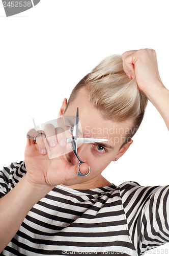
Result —
<path fill-rule="evenodd" d="M 0 165 L 24 159 L 32 118 L 57 118 L 63 99 L 106 56 L 154 49 L 169 89 L 168 22 L 167 0 L 41 0 L 11 17 L 1 3 Z M 149 101 L 129 150 L 103 176 L 117 185 L 127 180 L 165 185 L 168 163 L 168 130 Z M 169 252 L 169 245 L 158 248 L 161 255 L 162 249 Z"/>

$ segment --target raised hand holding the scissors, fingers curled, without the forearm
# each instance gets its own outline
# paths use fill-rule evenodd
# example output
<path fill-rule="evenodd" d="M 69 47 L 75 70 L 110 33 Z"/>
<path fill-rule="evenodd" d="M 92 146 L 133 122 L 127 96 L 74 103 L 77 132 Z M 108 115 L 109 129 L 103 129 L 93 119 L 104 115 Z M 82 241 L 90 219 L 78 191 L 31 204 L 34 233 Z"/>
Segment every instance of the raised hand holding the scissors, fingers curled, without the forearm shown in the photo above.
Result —
<path fill-rule="evenodd" d="M 77 177 L 77 166 L 72 165 L 67 160 L 67 153 L 71 149 L 71 144 L 67 144 L 67 137 L 71 137 L 68 131 L 62 131 L 62 127 L 55 128 L 52 124 L 46 124 L 43 134 L 37 136 L 35 129 L 31 129 L 28 134 L 36 137 L 34 140 L 27 138 L 25 148 L 26 178 L 34 185 L 47 185 L 54 187 L 65 182 L 75 184 Z M 82 174 L 88 173 L 89 166 L 86 163 L 80 165 Z M 75 183 L 74 183 L 75 182 Z"/>

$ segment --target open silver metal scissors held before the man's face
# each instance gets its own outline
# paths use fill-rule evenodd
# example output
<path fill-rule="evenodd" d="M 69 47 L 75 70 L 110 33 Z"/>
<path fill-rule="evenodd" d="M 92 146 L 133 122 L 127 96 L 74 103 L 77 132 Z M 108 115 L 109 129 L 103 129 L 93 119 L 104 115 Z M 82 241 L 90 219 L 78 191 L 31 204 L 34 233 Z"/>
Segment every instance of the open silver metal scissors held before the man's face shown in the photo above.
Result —
<path fill-rule="evenodd" d="M 77 144 L 78 143 L 80 143 L 80 144 L 82 144 L 82 143 L 94 143 L 94 142 L 101 142 L 101 141 L 107 141 L 107 140 L 106 139 L 97 139 L 97 138 L 78 138 L 78 122 L 79 122 L 79 118 L 78 118 L 78 108 L 77 108 L 74 127 L 73 127 L 73 136 L 72 136 L 72 138 L 67 138 L 67 143 L 72 144 L 72 150 L 73 150 L 75 156 L 77 157 L 77 159 L 79 160 L 77 176 L 87 176 L 90 173 L 90 167 L 89 167 L 89 172 L 86 175 L 83 175 L 82 173 L 80 173 L 80 170 L 79 170 L 80 164 L 85 163 L 85 162 L 81 161 L 78 154 L 77 154 Z M 35 137 L 30 136 L 29 134 L 27 134 L 26 137 L 29 138 L 29 139 L 33 139 L 36 143 L 36 137 L 39 134 L 44 134 L 44 133 L 38 132 L 38 134 Z"/>

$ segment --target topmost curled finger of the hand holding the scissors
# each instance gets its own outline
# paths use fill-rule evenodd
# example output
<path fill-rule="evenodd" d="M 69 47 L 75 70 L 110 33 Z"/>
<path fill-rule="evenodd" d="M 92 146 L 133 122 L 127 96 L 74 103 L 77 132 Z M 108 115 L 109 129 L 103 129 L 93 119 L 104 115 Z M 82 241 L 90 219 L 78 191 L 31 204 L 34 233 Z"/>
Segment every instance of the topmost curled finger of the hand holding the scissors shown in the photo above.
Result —
<path fill-rule="evenodd" d="M 57 146 L 57 136 L 55 133 L 55 127 L 51 123 L 47 123 L 44 126 L 44 133 L 46 135 L 47 143 L 50 147 Z"/>

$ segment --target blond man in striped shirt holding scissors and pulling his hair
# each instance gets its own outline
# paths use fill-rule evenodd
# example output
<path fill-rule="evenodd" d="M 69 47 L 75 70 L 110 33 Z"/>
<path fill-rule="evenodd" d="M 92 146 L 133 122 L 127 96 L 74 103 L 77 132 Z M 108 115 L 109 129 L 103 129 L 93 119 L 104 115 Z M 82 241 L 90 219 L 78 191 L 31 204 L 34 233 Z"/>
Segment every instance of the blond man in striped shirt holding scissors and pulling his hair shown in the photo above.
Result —
<path fill-rule="evenodd" d="M 73 116 L 78 107 L 83 137 L 107 139 L 78 147 L 85 162 L 80 172 L 88 174 L 90 166 L 89 175 L 77 176 L 78 159 L 66 141 L 72 127 L 57 134 L 50 124 L 36 143 L 27 138 L 24 161 L 2 170 L 2 255 L 140 255 L 169 241 L 168 186 L 124 182 L 116 187 L 101 176 L 131 145 L 147 98 L 169 130 L 169 91 L 161 82 L 155 51 L 128 51 L 122 59 L 103 60 L 77 84 L 68 103 L 64 99 L 59 112 L 59 117 Z M 52 157 L 56 151 L 63 154 Z"/>

